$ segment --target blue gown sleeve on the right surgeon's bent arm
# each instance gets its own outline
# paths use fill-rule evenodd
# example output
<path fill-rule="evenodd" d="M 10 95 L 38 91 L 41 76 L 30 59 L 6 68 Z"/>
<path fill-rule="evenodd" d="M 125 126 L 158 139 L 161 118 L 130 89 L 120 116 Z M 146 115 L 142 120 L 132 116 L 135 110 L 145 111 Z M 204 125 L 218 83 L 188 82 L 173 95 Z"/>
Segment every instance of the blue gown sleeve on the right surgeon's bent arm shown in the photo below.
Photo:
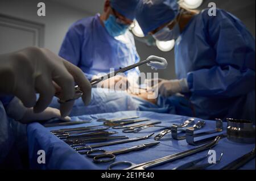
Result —
<path fill-rule="evenodd" d="M 233 97 L 255 90 L 255 39 L 238 19 L 224 11 L 208 22 L 208 38 L 216 65 L 188 73 L 196 95 Z"/>

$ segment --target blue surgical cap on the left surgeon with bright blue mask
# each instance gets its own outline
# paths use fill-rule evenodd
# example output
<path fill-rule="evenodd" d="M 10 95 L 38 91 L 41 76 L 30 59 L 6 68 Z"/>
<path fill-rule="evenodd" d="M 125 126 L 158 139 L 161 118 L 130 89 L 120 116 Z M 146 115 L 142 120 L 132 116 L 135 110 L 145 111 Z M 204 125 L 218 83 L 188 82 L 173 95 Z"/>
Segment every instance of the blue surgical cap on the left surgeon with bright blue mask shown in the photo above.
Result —
<path fill-rule="evenodd" d="M 140 0 L 110 0 L 110 5 L 130 20 L 135 18 L 135 10 Z"/>

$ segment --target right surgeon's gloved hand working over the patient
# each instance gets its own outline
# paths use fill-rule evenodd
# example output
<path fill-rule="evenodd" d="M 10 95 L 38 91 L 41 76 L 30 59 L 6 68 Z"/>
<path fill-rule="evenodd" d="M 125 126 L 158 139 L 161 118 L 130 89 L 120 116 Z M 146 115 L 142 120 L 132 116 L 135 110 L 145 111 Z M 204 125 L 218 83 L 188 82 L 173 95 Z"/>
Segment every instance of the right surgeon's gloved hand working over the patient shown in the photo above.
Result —
<path fill-rule="evenodd" d="M 180 80 L 164 80 L 161 81 L 158 85 L 153 87 L 154 91 L 158 92 L 164 97 L 168 97 L 180 92 L 189 92 L 187 79 Z"/>

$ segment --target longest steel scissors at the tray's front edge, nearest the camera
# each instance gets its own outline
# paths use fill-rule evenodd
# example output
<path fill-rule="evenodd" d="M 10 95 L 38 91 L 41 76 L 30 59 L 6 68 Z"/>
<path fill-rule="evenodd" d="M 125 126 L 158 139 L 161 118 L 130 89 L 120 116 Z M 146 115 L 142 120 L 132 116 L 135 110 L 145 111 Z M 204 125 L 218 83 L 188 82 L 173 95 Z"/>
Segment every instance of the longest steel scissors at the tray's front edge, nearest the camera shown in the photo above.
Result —
<path fill-rule="evenodd" d="M 193 148 L 191 150 L 187 150 L 187 151 L 183 151 L 181 153 L 168 155 L 166 157 L 162 157 L 162 158 L 159 158 L 159 159 L 155 159 L 153 161 L 148 161 L 148 162 L 144 162 L 144 163 L 140 163 L 140 164 L 135 164 L 133 162 L 128 162 L 128 161 L 115 162 L 115 163 L 112 163 L 108 167 L 108 170 L 112 170 L 112 168 L 117 166 L 117 165 L 128 165 L 128 167 L 125 170 L 146 170 L 146 169 L 150 169 L 152 167 L 163 165 L 164 163 L 172 162 L 176 159 L 184 158 L 184 157 L 187 157 L 189 155 L 199 153 L 200 151 L 204 151 L 206 149 L 212 148 L 213 146 L 215 146 L 218 143 L 219 140 L 220 140 L 220 137 L 217 136 L 215 138 L 215 140 L 213 140 L 212 142 L 209 142 L 208 144 L 205 144 L 203 146 L 199 146 L 199 147 Z"/>

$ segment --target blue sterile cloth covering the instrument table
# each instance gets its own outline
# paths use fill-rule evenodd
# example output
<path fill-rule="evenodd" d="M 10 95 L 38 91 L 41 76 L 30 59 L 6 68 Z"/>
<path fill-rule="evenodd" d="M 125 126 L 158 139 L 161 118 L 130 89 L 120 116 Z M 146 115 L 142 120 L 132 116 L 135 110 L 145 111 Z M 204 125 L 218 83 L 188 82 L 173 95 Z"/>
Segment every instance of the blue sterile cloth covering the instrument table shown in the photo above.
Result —
<path fill-rule="evenodd" d="M 92 162 L 92 158 L 88 158 L 85 155 L 80 155 L 70 146 L 65 144 L 64 141 L 59 140 L 56 136 L 53 136 L 50 131 L 61 129 L 61 128 L 75 128 L 81 126 L 90 126 L 98 125 L 100 122 L 97 122 L 97 119 L 113 119 L 119 117 L 129 117 L 129 116 L 140 116 L 140 118 L 147 118 L 151 121 L 162 121 L 160 125 L 170 127 L 171 124 L 180 124 L 183 123 L 188 117 L 177 116 L 164 113 L 155 113 L 155 112 L 140 112 L 140 111 L 122 111 L 115 113 L 102 113 L 97 115 L 86 115 L 72 117 L 72 120 L 92 120 L 92 123 L 73 125 L 69 127 L 52 127 L 44 128 L 43 125 L 39 123 L 29 124 L 27 127 L 28 135 L 28 146 L 29 146 L 29 155 L 30 155 L 30 166 L 31 169 L 107 169 L 110 163 L 101 163 L 96 164 Z M 198 121 L 199 119 L 196 119 Z M 206 120 L 206 125 L 199 132 L 210 131 L 215 128 L 215 121 Z M 224 128 L 226 123 L 224 123 Z M 152 132 L 160 132 L 160 128 L 152 127 L 145 129 L 139 133 L 122 133 L 120 129 L 109 129 L 109 131 L 118 131 L 119 133 L 116 136 L 126 135 L 129 138 L 146 136 Z M 211 135 L 213 136 L 213 135 Z M 209 136 L 204 136 L 196 138 L 199 140 Z M 126 144 L 112 145 L 102 147 L 100 149 L 106 150 L 117 150 L 122 148 L 129 148 L 131 146 L 141 145 L 149 142 L 155 142 L 154 136 L 147 140 L 130 142 Z M 93 144 L 88 144 L 93 145 Z M 220 157 L 220 154 L 223 152 L 224 155 L 222 160 L 217 165 L 213 165 L 208 169 L 220 169 L 221 167 L 227 165 L 228 163 L 234 161 L 238 157 L 249 153 L 255 144 L 238 144 L 235 142 L 229 141 L 227 138 L 223 138 L 218 142 L 218 144 L 212 148 L 216 151 L 217 158 Z M 179 153 L 180 151 L 185 151 L 188 149 L 195 148 L 195 146 L 188 145 L 185 140 L 176 141 L 171 138 L 171 134 L 167 134 L 165 137 L 160 140 L 160 145 L 147 148 L 144 150 L 133 151 L 127 154 L 117 155 L 115 161 L 131 161 L 134 163 L 143 163 L 146 161 L 151 161 L 153 159 L 158 159 L 165 157 L 170 154 Z M 46 151 L 46 163 L 39 164 L 37 162 L 39 155 L 38 150 Z M 154 167 L 152 169 L 173 169 L 174 167 L 180 166 L 184 163 L 193 161 L 197 158 L 201 158 L 207 155 L 208 150 L 202 151 L 200 153 L 185 157 L 183 159 L 178 159 L 171 163 L 166 163 L 164 165 Z M 255 169 L 255 159 L 247 163 L 241 169 Z"/>

